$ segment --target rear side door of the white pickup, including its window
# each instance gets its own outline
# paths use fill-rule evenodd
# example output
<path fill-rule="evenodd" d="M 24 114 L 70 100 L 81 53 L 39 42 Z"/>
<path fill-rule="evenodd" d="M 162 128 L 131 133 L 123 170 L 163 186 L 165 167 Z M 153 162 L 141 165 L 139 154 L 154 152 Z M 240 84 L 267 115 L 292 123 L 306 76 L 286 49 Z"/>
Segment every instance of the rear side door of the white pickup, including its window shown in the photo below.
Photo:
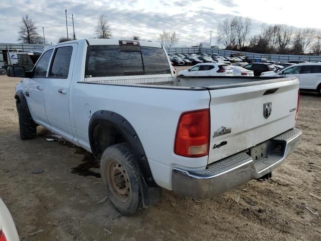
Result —
<path fill-rule="evenodd" d="M 69 112 L 69 87 L 78 44 L 59 45 L 53 53 L 45 84 L 45 109 L 51 129 L 64 137 L 74 138 Z"/>

